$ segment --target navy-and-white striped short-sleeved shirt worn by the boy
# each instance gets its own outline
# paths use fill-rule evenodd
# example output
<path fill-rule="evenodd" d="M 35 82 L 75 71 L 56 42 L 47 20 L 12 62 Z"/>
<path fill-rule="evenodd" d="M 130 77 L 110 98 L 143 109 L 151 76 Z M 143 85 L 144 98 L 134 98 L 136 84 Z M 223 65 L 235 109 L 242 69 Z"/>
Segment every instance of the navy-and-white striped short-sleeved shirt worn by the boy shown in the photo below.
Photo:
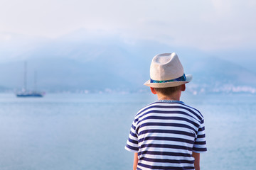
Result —
<path fill-rule="evenodd" d="M 135 115 L 125 149 L 137 169 L 195 169 L 192 152 L 206 152 L 203 115 L 181 101 L 157 101 Z"/>

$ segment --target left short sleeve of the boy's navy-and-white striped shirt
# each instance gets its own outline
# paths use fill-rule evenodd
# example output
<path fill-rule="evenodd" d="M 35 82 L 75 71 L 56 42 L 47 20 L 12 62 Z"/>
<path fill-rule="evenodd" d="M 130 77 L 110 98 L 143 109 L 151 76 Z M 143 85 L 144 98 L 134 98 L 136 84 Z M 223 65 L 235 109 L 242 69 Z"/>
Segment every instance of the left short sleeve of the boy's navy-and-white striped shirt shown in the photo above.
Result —
<path fill-rule="evenodd" d="M 134 121 L 132 123 L 132 128 L 129 132 L 127 145 L 124 147 L 129 152 L 138 152 L 139 151 L 138 135 L 137 135 L 137 132 L 136 132 L 136 125 L 137 125 L 137 121 L 134 119 Z"/>

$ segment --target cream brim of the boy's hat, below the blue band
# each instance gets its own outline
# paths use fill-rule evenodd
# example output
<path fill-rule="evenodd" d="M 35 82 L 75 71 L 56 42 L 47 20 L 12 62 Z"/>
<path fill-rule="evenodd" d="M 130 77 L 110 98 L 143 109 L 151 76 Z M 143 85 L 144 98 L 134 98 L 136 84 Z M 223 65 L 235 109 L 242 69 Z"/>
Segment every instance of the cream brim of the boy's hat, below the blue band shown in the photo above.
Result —
<path fill-rule="evenodd" d="M 150 83 L 150 80 L 144 83 L 145 86 L 150 86 L 154 88 L 165 88 L 165 87 L 173 87 L 173 86 L 180 86 L 182 84 L 187 84 L 192 80 L 191 74 L 186 74 L 186 81 L 171 81 L 167 83 Z"/>

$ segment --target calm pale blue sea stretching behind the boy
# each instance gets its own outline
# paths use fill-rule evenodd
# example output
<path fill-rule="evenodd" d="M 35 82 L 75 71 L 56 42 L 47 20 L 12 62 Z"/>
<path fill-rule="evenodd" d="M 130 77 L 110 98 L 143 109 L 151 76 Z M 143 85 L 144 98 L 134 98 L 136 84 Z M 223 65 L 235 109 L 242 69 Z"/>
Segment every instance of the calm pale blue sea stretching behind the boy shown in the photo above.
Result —
<path fill-rule="evenodd" d="M 124 149 L 137 111 L 153 94 L 0 94 L 1 170 L 127 170 Z M 201 169 L 256 167 L 256 95 L 184 93 L 206 125 Z"/>

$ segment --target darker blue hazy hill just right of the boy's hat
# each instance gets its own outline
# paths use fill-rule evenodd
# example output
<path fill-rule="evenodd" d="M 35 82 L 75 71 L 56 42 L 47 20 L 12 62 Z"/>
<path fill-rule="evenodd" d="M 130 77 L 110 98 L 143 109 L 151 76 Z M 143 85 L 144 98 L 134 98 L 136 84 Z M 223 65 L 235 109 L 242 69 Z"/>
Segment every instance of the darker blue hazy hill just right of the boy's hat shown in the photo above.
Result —
<path fill-rule="evenodd" d="M 193 73 L 195 93 L 256 93 L 256 74 L 233 62 L 206 57 L 187 68 Z"/>

